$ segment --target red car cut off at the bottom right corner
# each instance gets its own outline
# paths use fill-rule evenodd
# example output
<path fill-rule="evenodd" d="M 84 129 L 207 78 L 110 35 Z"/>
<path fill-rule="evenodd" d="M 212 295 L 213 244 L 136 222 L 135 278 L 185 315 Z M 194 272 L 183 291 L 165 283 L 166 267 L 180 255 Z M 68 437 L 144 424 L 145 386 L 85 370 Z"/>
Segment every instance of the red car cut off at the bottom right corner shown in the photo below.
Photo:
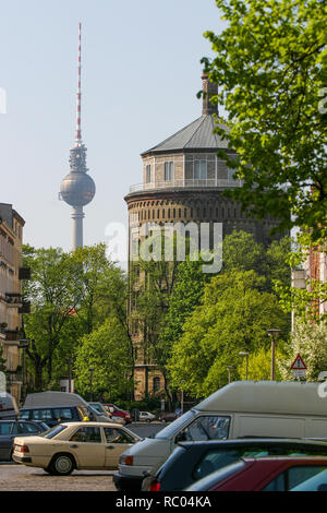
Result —
<path fill-rule="evenodd" d="M 244 457 L 185 491 L 326 491 L 327 456 Z"/>

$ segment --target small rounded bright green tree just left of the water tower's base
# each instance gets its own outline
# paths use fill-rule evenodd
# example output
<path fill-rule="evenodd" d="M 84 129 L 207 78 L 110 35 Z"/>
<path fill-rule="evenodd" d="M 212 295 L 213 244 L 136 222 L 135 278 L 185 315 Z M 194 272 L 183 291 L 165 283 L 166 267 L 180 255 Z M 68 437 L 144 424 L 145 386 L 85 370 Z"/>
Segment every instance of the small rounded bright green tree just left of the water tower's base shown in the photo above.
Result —
<path fill-rule="evenodd" d="M 92 333 L 84 335 L 75 358 L 75 386 L 89 395 L 90 374 L 94 368 L 93 391 L 96 395 L 109 394 L 111 401 L 133 390 L 133 360 L 129 351 L 130 341 L 117 317 L 107 319 Z"/>

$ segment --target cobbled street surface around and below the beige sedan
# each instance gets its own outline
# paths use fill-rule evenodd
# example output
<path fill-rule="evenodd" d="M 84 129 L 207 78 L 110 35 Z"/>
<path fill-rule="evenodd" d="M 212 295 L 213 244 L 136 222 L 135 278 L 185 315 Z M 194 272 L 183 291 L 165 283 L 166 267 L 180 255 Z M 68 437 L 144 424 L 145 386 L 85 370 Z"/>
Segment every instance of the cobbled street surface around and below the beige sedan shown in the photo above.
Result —
<path fill-rule="evenodd" d="M 161 422 L 133 422 L 131 431 L 142 438 L 156 434 L 165 428 Z M 117 491 L 113 470 L 74 470 L 70 476 L 50 476 L 41 468 L 0 463 L 1 491 Z"/>

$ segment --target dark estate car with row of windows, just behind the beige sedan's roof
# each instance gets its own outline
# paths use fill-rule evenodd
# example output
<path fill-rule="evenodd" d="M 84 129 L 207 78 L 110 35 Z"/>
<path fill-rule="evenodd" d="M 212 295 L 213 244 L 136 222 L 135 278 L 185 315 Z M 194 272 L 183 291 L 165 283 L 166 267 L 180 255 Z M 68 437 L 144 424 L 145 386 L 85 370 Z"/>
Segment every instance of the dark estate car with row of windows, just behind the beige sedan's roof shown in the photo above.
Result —
<path fill-rule="evenodd" d="M 95 413 L 96 415 L 96 413 Z M 80 422 L 87 418 L 96 420 L 92 408 L 85 406 L 38 406 L 33 408 L 21 408 L 20 417 L 24 420 L 43 420 L 50 428 L 60 422 Z"/>

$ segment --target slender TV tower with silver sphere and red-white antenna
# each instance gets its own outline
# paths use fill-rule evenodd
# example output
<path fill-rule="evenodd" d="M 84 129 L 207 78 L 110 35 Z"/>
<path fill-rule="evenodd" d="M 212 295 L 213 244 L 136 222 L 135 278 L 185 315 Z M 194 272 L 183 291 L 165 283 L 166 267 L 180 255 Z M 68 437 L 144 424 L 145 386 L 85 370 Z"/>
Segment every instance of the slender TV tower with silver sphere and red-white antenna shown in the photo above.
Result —
<path fill-rule="evenodd" d="M 62 180 L 60 186 L 60 198 L 73 207 L 73 251 L 76 248 L 83 247 L 83 218 L 85 214 L 83 206 L 87 205 L 95 195 L 95 182 L 86 175 L 88 169 L 86 167 L 86 152 L 87 148 L 82 142 L 81 129 L 81 33 L 82 23 L 78 24 L 78 65 L 77 65 L 77 102 L 76 102 L 76 131 L 75 131 L 75 145 L 70 151 L 70 174 Z"/>

